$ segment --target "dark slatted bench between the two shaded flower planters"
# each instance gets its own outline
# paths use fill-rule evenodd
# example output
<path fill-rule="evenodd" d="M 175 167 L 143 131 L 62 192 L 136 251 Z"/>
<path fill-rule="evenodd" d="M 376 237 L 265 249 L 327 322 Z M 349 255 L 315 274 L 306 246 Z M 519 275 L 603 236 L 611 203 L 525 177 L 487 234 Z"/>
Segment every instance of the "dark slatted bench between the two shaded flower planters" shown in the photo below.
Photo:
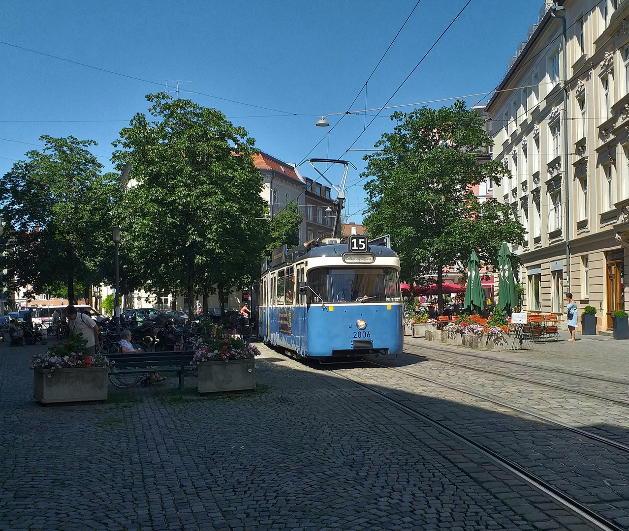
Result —
<path fill-rule="evenodd" d="M 114 362 L 109 370 L 109 377 L 125 375 L 146 375 L 150 373 L 177 373 L 179 375 L 179 390 L 184 388 L 186 371 L 192 371 L 190 364 L 194 351 L 148 351 L 107 354 L 107 358 Z M 128 385 L 137 383 L 131 380 Z"/>

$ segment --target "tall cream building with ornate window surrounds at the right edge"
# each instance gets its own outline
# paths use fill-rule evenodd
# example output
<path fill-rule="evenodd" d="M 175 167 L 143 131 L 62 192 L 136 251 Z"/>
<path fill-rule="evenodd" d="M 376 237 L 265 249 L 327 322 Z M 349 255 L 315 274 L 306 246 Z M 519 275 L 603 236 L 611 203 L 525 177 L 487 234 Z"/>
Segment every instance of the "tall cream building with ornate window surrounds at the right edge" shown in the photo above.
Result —
<path fill-rule="evenodd" d="M 627 292 L 629 1 L 547 1 L 486 111 L 512 175 L 494 197 L 528 231 L 514 249 L 525 309 L 565 327 L 570 291 L 579 315 L 593 305 L 599 331 L 610 329 Z"/>

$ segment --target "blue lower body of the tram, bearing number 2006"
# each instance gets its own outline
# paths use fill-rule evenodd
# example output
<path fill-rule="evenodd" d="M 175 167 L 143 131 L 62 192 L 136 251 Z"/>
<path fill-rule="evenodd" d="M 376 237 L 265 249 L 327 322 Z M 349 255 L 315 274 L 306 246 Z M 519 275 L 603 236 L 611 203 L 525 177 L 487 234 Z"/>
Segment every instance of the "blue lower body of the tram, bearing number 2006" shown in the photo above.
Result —
<path fill-rule="evenodd" d="M 308 358 L 401 354 L 402 314 L 399 303 L 262 307 L 259 332 L 264 341 Z"/>

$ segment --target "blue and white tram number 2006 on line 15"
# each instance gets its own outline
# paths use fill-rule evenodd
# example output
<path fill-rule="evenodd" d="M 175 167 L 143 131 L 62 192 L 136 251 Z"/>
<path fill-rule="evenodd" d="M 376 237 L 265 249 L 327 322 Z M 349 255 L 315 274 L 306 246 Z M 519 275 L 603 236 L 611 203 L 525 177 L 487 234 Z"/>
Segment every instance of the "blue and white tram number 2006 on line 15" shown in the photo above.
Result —
<path fill-rule="evenodd" d="M 398 255 L 366 238 L 362 246 L 277 249 L 262 264 L 258 287 L 264 341 L 320 361 L 401 353 Z"/>

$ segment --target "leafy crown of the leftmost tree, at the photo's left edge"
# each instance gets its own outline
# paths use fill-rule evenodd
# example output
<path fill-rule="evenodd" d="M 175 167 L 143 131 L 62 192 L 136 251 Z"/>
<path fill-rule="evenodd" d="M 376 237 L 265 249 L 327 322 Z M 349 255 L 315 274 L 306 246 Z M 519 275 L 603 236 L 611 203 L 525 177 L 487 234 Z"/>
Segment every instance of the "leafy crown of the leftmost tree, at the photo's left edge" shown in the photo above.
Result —
<path fill-rule="evenodd" d="M 0 180 L 0 212 L 8 221 L 7 266 L 18 285 L 62 292 L 100 282 L 111 252 L 110 212 L 120 185 L 87 148 L 92 140 L 42 136 Z M 65 285 L 65 290 L 60 288 Z"/>

